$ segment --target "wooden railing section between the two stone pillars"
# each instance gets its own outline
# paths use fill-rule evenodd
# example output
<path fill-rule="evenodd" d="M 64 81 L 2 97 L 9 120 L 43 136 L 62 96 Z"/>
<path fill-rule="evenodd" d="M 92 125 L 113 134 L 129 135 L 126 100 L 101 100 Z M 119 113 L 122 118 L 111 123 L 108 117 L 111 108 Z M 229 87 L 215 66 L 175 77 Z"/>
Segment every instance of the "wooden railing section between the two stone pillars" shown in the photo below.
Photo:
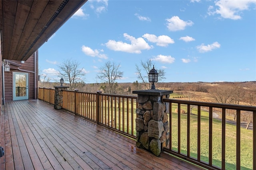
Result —
<path fill-rule="evenodd" d="M 63 109 L 136 138 L 136 96 L 63 91 Z"/>

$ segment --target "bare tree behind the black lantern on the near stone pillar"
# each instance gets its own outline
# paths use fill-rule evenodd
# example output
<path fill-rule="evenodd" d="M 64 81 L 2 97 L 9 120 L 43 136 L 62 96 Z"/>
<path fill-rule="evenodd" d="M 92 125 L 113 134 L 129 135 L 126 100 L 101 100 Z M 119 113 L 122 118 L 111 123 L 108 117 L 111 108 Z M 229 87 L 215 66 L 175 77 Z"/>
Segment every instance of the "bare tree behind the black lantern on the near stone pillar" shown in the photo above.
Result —
<path fill-rule="evenodd" d="M 146 89 L 150 89 L 151 83 L 148 82 L 148 73 L 153 68 L 155 64 L 152 63 L 151 59 L 146 60 L 145 62 L 140 61 L 140 66 L 136 64 L 136 74 L 138 74 L 138 79 L 141 80 L 142 84 Z M 165 79 L 164 69 L 156 69 L 158 72 L 158 82 L 161 82 Z"/>

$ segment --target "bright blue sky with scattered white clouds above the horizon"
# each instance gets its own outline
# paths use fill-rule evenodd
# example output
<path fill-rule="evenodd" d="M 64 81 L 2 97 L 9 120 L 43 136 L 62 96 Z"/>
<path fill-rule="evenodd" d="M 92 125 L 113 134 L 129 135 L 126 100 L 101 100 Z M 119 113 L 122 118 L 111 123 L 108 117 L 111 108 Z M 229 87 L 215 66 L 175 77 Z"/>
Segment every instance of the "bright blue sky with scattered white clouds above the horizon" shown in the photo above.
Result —
<path fill-rule="evenodd" d="M 95 83 L 107 61 L 123 78 L 152 59 L 164 82 L 256 81 L 256 0 L 88 0 L 39 49 L 41 74 L 74 59 Z"/>

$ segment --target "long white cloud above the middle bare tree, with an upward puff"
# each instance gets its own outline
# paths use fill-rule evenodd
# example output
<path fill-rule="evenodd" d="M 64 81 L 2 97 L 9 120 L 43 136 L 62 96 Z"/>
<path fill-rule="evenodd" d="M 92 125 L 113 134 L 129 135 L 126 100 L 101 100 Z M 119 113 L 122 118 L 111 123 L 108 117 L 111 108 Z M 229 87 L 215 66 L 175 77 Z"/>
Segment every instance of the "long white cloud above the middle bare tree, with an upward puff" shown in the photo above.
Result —
<path fill-rule="evenodd" d="M 141 50 L 148 50 L 152 48 L 152 46 L 148 45 L 148 43 L 146 43 L 146 41 L 141 37 L 136 39 L 135 37 L 132 37 L 127 33 L 124 33 L 124 37 L 131 43 L 128 44 L 122 41 L 108 40 L 108 42 L 105 45 L 106 47 L 114 51 L 123 51 L 127 53 L 137 54 L 141 53 Z"/>

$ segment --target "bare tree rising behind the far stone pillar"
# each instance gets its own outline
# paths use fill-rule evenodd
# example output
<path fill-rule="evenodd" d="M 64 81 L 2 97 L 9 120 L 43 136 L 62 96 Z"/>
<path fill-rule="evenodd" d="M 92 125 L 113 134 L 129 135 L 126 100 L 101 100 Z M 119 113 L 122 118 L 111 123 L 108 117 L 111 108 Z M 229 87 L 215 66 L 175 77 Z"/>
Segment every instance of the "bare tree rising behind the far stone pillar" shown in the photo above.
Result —
<path fill-rule="evenodd" d="M 70 90 L 74 90 L 78 82 L 82 82 L 85 73 L 79 68 L 80 63 L 73 59 L 67 59 L 59 67 L 59 76 L 70 84 Z"/>

